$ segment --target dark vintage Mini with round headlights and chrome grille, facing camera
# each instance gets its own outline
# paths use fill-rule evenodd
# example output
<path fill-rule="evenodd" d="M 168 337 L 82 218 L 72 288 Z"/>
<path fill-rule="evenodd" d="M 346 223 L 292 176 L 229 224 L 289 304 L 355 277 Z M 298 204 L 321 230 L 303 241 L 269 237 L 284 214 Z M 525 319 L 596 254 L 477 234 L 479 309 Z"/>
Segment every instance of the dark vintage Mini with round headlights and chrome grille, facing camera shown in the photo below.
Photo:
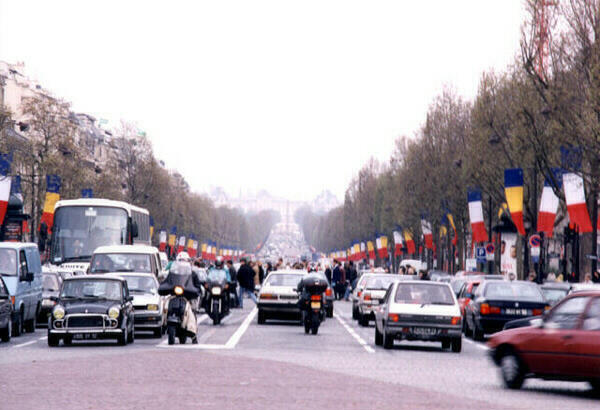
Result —
<path fill-rule="evenodd" d="M 127 281 L 107 275 L 65 279 L 48 318 L 48 346 L 62 339 L 117 339 L 120 345 L 134 341 L 133 297 Z"/>

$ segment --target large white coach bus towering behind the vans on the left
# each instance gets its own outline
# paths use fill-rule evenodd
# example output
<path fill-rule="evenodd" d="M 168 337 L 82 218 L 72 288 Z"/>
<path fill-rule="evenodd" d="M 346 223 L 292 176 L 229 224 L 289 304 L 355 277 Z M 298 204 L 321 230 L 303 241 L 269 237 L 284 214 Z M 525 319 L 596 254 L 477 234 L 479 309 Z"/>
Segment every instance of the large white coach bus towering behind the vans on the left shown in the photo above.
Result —
<path fill-rule="evenodd" d="M 87 271 L 94 250 L 105 245 L 150 245 L 150 213 L 121 201 L 58 201 L 50 238 L 52 265 Z"/>

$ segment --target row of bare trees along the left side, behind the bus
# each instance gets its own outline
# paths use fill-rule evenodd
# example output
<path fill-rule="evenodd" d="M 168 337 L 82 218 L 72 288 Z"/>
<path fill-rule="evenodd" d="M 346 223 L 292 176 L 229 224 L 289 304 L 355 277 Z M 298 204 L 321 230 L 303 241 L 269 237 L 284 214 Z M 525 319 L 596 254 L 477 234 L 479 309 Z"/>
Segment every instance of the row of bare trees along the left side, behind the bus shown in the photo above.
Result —
<path fill-rule="evenodd" d="M 24 100 L 21 110 L 21 132 L 11 133 L 12 113 L 0 107 L 0 152 L 12 153 L 12 173 L 21 176 L 33 227 L 39 224 L 49 174 L 61 177 L 62 198 L 79 198 L 82 189 L 91 188 L 95 197 L 147 208 L 155 223 L 154 242 L 159 229 L 176 226 L 181 234 L 251 251 L 279 219 L 272 211 L 245 215 L 215 207 L 208 197 L 192 192 L 179 173 L 167 170 L 132 124 L 122 123 L 107 135 L 109 149 L 102 154 L 98 144 L 86 144 L 86 131 L 68 103 L 40 94 Z M 94 161 L 99 155 L 103 160 Z"/>

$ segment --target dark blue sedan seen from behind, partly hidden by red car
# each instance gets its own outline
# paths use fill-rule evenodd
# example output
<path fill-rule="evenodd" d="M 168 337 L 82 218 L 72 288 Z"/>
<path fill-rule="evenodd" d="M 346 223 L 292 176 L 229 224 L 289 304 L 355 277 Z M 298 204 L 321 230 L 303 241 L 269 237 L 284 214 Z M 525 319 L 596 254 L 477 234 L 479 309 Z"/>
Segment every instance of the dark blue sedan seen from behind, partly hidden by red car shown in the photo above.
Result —
<path fill-rule="evenodd" d="M 485 334 L 502 330 L 511 320 L 540 316 L 547 309 L 536 283 L 484 280 L 465 309 L 465 328 L 474 340 L 483 340 Z"/>

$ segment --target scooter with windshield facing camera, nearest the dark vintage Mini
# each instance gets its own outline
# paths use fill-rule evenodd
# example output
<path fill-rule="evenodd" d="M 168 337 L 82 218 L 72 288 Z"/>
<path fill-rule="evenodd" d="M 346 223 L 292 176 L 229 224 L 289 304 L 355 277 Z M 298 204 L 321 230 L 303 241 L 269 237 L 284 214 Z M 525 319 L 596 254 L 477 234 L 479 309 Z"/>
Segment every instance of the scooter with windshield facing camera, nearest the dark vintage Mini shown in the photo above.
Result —
<path fill-rule="evenodd" d="M 185 344 L 188 336 L 195 339 L 196 334 L 188 331 L 183 326 L 184 316 L 190 304 L 189 301 L 198 298 L 200 295 L 200 291 L 193 284 L 192 270 L 189 264 L 174 263 L 169 271 L 169 275 L 160 284 L 158 294 L 173 296 L 169 299 L 167 308 L 167 335 L 169 344 L 174 344 L 176 337 L 181 344 Z M 188 313 L 193 314 L 193 311 L 190 309 Z"/>

